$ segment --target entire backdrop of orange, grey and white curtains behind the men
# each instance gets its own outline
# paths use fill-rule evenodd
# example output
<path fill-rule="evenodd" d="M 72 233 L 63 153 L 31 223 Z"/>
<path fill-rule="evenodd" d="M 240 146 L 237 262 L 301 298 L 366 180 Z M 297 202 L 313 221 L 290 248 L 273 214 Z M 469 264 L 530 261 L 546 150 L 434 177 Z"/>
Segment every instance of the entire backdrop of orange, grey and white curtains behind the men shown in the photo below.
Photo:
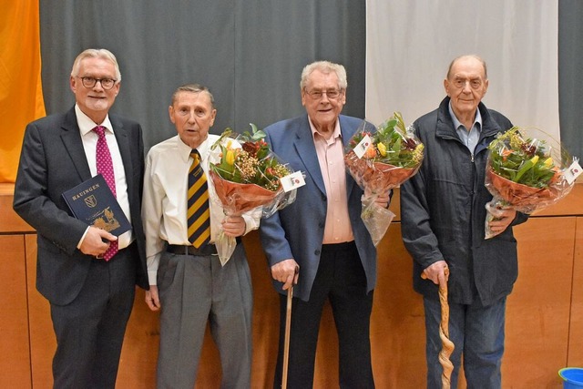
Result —
<path fill-rule="evenodd" d="M 148 148 L 174 135 L 168 105 L 182 83 L 214 92 L 214 132 L 264 127 L 304 112 L 302 67 L 330 59 L 348 70 L 345 114 L 379 124 L 398 109 L 413 122 L 445 96 L 452 57 L 474 52 L 489 65 L 488 107 L 555 134 L 560 112 L 561 140 L 583 155 L 580 0 L 0 0 L 0 182 L 14 180 L 26 121 L 42 101 L 38 24 L 28 12 L 37 4 L 47 113 L 72 106 L 68 75 L 77 53 L 107 47 L 123 74 L 114 111 L 142 123 Z"/>

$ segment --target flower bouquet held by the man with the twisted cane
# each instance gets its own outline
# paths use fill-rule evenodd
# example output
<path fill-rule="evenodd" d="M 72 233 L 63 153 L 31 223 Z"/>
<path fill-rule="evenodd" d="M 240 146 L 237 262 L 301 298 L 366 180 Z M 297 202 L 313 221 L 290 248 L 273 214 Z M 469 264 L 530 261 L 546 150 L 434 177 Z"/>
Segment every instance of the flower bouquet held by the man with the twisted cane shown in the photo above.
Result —
<path fill-rule="evenodd" d="M 488 146 L 485 182 L 494 199 L 486 204 L 486 239 L 497 235 L 489 228 L 497 210 L 541 210 L 566 196 L 580 174 L 578 159 L 556 140 L 535 128 L 529 132 L 540 136 L 529 138 L 524 129 L 514 127 Z"/>

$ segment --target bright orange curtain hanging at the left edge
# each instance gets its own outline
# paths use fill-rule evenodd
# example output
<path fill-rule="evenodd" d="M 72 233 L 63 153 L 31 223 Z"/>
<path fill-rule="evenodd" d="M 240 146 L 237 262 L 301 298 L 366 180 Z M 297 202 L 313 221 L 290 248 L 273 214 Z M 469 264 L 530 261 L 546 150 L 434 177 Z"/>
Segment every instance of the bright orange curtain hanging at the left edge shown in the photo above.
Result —
<path fill-rule="evenodd" d="M 0 0 L 0 182 L 14 182 L 26 124 L 46 115 L 38 1 Z"/>

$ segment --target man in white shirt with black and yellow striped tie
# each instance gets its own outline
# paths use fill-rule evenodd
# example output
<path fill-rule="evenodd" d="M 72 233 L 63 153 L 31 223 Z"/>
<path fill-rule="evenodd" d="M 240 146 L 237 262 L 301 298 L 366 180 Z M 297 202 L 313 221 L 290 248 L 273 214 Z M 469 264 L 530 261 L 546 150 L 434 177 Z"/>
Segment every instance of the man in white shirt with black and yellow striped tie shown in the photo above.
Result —
<path fill-rule="evenodd" d="M 221 266 L 213 244 L 240 237 L 259 217 L 227 216 L 209 200 L 209 135 L 217 110 L 207 87 L 179 87 L 169 107 L 178 136 L 152 147 L 146 161 L 142 219 L 150 289 L 160 313 L 159 388 L 194 387 L 207 321 L 220 352 L 221 387 L 251 387 L 251 274 L 239 242 Z"/>

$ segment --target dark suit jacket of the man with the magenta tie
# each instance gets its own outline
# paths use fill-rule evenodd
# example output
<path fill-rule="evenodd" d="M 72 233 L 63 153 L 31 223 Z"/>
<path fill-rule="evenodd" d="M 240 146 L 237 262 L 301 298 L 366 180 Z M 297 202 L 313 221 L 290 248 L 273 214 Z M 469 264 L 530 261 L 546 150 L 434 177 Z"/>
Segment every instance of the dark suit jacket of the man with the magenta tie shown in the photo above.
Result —
<path fill-rule="evenodd" d="M 140 217 L 144 146 L 139 124 L 109 115 L 128 180 L 131 221 L 138 245 L 136 283 L 148 288 Z M 14 209 L 37 232 L 36 288 L 49 302 L 72 302 L 83 286 L 90 256 L 77 250 L 87 224 L 72 216 L 61 194 L 91 178 L 75 108 L 26 126 L 15 182 Z"/>

